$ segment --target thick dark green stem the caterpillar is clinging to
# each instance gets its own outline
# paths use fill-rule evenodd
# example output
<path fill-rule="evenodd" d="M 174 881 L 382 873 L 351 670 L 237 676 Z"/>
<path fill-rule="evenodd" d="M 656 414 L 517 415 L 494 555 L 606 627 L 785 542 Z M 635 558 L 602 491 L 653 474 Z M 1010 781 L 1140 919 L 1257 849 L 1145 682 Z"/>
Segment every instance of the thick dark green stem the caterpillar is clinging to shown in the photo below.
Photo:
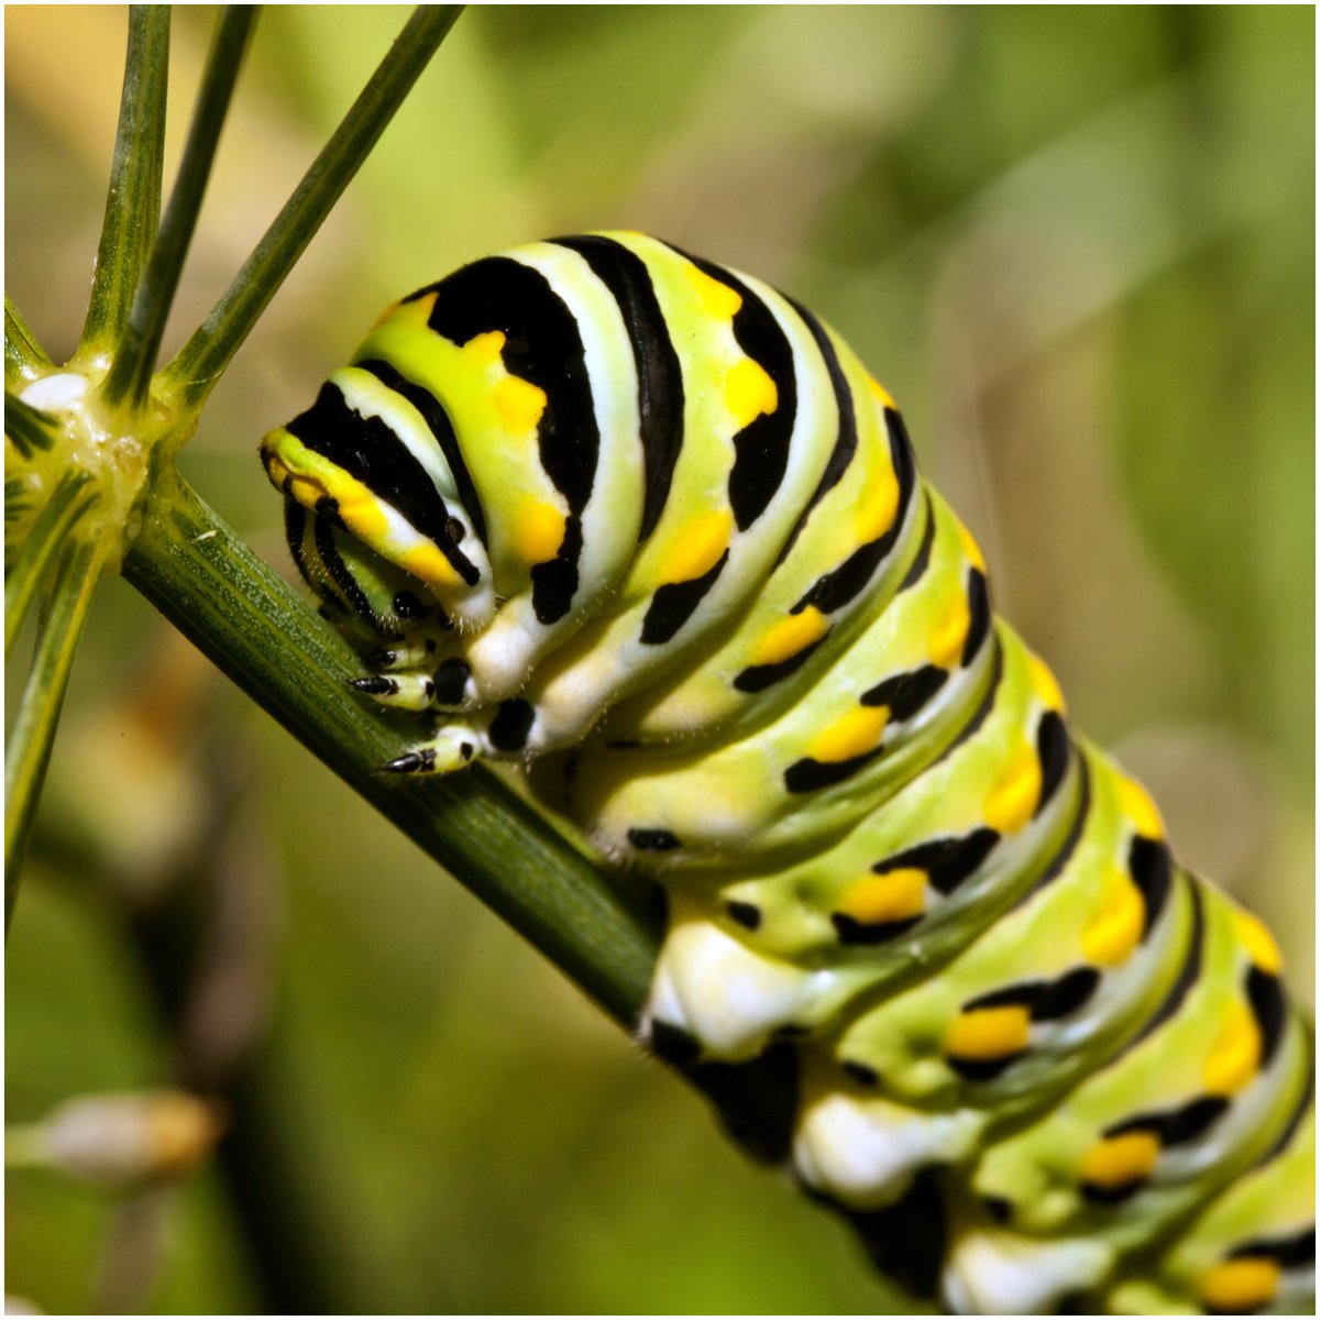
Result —
<path fill-rule="evenodd" d="M 378 773 L 419 740 L 419 727 L 349 687 L 362 667 L 347 645 L 177 474 L 162 474 L 124 575 L 321 761 L 631 1025 L 659 937 L 649 906 L 612 886 L 483 768 L 445 778 Z"/>

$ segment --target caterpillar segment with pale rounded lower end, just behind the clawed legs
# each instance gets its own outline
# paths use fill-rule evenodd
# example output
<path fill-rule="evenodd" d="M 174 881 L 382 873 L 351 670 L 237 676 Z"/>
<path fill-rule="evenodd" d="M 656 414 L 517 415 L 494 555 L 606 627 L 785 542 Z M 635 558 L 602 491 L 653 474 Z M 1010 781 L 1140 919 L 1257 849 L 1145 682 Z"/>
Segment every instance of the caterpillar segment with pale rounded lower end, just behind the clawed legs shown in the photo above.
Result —
<path fill-rule="evenodd" d="M 958 544 L 952 532 L 948 540 Z M 594 753 L 593 741 L 594 754 L 577 760 L 560 810 L 621 855 L 646 852 L 630 831 L 667 831 L 680 843 L 659 865 L 728 867 L 753 853 L 802 852 L 814 835 L 838 835 L 918 769 L 954 756 L 999 684 L 1013 688 L 1007 703 L 1032 700 L 1025 666 L 1007 679 L 989 620 L 971 631 L 966 561 L 951 560 L 941 590 L 902 590 L 888 601 L 877 593 L 875 614 L 827 653 L 799 701 L 741 737 L 727 727 L 720 746 L 690 750 L 675 741 L 662 756 L 651 745 L 609 737 Z M 943 700 L 934 700 L 938 694 Z M 1012 717 L 1001 724 L 1004 737 L 1020 733 Z"/>

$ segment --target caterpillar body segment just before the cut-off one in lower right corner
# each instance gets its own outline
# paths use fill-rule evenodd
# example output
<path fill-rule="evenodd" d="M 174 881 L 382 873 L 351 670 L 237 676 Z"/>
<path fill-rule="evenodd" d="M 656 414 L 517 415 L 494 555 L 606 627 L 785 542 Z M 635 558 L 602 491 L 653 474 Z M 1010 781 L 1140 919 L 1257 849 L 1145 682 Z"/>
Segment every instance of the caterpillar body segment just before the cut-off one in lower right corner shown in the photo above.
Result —
<path fill-rule="evenodd" d="M 1205 971 L 1169 1017 L 979 1155 L 970 1201 L 993 1207 L 993 1223 L 979 1211 L 956 1232 L 954 1279 L 976 1284 L 1008 1234 L 1018 1260 L 1030 1256 L 1020 1238 L 1103 1246 L 1104 1269 L 1086 1281 L 1095 1287 L 1251 1168 L 1297 1115 L 1310 1090 L 1303 1025 L 1254 1004 L 1258 970 L 1236 939 L 1235 910 L 1214 890 L 1199 898 Z"/>

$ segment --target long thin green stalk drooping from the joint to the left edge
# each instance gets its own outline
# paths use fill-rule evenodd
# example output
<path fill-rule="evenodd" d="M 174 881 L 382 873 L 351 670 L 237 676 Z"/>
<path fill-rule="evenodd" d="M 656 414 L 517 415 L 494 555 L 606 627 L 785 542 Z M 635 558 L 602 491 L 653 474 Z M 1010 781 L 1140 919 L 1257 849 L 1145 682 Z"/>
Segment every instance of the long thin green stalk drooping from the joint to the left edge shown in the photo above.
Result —
<path fill-rule="evenodd" d="M 18 869 L 46 777 L 50 745 L 69 684 L 74 653 L 92 592 L 100 577 L 104 552 L 99 543 L 73 540 L 55 569 L 50 597 L 37 627 L 32 672 L 18 705 L 4 765 L 4 900 L 5 931 L 18 894 Z"/>

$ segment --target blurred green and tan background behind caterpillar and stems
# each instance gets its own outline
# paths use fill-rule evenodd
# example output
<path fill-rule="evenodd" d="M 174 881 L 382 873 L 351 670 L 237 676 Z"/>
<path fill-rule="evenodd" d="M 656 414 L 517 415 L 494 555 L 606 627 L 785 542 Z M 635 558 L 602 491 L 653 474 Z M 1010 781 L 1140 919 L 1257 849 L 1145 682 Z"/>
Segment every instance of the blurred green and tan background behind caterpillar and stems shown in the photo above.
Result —
<path fill-rule="evenodd" d="M 166 351 L 406 12 L 262 16 Z M 213 17 L 176 13 L 170 159 Z M 1308 7 L 470 11 L 182 465 L 288 573 L 256 439 L 402 292 L 610 226 L 756 272 L 900 399 L 1077 725 L 1268 918 L 1310 1001 L 1313 25 Z M 5 283 L 57 361 L 123 42 L 118 8 L 5 11 Z M 5 1287 L 42 1309 L 904 1308 L 841 1225 L 118 581 L 5 984 L 11 1124 L 201 1059 L 231 1079 L 248 1162 L 239 1185 L 211 1162 L 127 1197 L 12 1172 Z"/>

